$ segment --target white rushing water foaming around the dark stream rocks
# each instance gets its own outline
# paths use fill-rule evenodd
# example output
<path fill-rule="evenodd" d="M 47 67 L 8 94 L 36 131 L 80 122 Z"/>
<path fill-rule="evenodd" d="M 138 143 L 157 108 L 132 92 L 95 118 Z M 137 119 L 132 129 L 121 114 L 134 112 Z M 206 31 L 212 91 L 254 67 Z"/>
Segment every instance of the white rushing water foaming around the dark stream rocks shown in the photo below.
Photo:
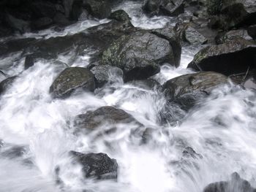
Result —
<path fill-rule="evenodd" d="M 143 28 L 157 28 L 167 18 L 146 18 L 136 2 L 120 5 L 129 12 L 132 23 Z M 120 8 L 117 7 L 116 9 Z M 42 31 L 25 37 L 49 38 L 83 31 L 108 20 L 82 21 L 63 32 Z M 19 37 L 17 37 L 19 38 Z M 181 66 L 162 66 L 154 76 L 160 83 L 181 74 L 196 50 L 183 50 Z M 72 66 L 86 66 L 89 57 Z M 60 61 L 68 56 L 60 55 Z M 83 61 L 83 62 L 82 62 Z M 161 93 L 135 85 L 116 82 L 97 90 L 96 94 L 79 93 L 67 99 L 52 99 L 49 88 L 64 69 L 54 61 L 38 61 L 23 71 L 20 53 L 1 58 L 1 68 L 18 78 L 0 98 L 0 191 L 122 191 L 179 192 L 202 191 L 208 183 L 227 180 L 232 172 L 256 185 L 255 92 L 236 85 L 218 88 L 207 99 L 199 101 L 174 125 L 159 126 L 159 114 L 165 106 Z M 82 64 L 83 63 L 83 64 Z M 72 120 L 76 115 L 110 105 L 132 114 L 151 137 L 141 144 L 135 125 L 120 125 L 111 134 L 99 132 L 74 134 Z M 170 109 L 172 110 L 172 109 Z M 1 142 L 0 142 L 1 145 Z M 191 153 L 183 153 L 186 147 Z M 70 150 L 83 153 L 107 153 L 118 162 L 118 182 L 85 180 L 79 165 L 72 164 Z M 56 167 L 59 176 L 56 176 Z M 61 179 L 61 183 L 56 180 Z"/>

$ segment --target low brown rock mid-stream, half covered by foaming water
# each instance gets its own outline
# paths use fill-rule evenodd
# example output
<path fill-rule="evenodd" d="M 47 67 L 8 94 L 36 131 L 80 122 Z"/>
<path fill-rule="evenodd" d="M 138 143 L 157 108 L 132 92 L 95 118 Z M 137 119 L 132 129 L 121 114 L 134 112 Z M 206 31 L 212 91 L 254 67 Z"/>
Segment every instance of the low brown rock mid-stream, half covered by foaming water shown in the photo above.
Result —
<path fill-rule="evenodd" d="M 86 112 L 86 114 L 78 115 L 75 118 L 75 126 L 91 131 L 104 123 L 113 126 L 118 123 L 138 123 L 138 121 L 124 110 L 110 106 L 99 107 L 95 111 Z"/>

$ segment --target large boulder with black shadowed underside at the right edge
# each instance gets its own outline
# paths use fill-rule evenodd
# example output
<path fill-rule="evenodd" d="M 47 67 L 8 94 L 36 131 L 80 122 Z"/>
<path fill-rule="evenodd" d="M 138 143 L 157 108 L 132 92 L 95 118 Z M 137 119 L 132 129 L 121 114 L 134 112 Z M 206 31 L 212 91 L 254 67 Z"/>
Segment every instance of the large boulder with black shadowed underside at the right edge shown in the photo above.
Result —
<path fill-rule="evenodd" d="M 255 67 L 256 45 L 244 39 L 235 39 L 221 45 L 200 50 L 188 68 L 197 71 L 219 72 L 225 75 L 246 72 Z"/>

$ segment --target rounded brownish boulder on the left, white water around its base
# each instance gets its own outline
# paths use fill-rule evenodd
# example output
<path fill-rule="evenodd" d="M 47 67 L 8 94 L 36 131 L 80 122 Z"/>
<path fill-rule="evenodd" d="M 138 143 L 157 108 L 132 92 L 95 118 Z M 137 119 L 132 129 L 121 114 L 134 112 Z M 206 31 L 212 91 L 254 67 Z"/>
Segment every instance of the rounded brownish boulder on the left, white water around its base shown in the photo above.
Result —
<path fill-rule="evenodd" d="M 95 82 L 94 74 L 89 69 L 83 67 L 69 67 L 64 69 L 53 84 L 50 85 L 50 93 L 54 98 L 63 98 L 69 96 L 78 88 L 83 88 L 86 91 L 94 91 Z"/>

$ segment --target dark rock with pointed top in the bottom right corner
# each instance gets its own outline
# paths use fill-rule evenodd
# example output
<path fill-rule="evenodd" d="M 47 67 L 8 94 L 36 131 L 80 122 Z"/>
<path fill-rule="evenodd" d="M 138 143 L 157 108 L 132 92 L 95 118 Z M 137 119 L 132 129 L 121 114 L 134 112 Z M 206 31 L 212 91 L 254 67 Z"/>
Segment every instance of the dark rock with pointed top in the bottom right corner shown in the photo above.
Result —
<path fill-rule="evenodd" d="M 231 174 L 231 180 L 211 183 L 203 189 L 203 192 L 255 192 L 247 180 L 241 179 L 238 173 Z"/>

